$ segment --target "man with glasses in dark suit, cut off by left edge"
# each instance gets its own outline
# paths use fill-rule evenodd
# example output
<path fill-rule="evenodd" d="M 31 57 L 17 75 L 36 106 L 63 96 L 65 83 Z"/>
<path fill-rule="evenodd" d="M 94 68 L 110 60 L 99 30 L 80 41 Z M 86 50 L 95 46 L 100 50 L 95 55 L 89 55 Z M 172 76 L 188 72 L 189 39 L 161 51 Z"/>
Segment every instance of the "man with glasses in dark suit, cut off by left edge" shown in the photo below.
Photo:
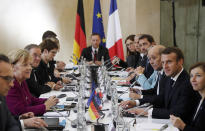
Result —
<path fill-rule="evenodd" d="M 20 131 L 22 126 L 36 128 L 47 126 L 42 119 L 36 117 L 19 121 L 11 115 L 6 105 L 5 96 L 13 86 L 13 80 L 13 69 L 8 57 L 0 54 L 0 131 Z M 26 115 L 24 114 L 24 116 Z"/>

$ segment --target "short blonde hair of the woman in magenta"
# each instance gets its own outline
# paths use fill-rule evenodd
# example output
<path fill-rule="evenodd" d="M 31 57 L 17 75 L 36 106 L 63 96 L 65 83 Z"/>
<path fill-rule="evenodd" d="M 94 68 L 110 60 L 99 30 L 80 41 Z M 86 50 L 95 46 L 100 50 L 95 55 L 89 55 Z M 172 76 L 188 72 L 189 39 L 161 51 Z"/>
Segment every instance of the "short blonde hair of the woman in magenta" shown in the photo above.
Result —
<path fill-rule="evenodd" d="M 29 55 L 29 52 L 23 49 L 18 49 L 15 51 L 11 51 L 8 54 L 11 64 L 16 64 L 21 58 L 23 59 L 23 63 L 26 63 L 27 61 L 31 60 L 31 56 Z"/>

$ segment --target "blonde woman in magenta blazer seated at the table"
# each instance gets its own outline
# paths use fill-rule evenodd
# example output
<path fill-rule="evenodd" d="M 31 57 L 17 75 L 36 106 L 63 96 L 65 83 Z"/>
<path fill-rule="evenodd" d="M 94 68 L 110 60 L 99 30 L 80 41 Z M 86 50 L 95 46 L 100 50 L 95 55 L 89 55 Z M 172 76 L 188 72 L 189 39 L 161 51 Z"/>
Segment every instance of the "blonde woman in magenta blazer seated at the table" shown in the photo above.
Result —
<path fill-rule="evenodd" d="M 48 100 L 35 98 L 29 92 L 26 79 L 31 74 L 31 57 L 25 50 L 18 50 L 11 53 L 11 63 L 14 70 L 14 86 L 9 90 L 6 102 L 13 115 L 19 116 L 26 112 L 33 112 L 35 115 L 42 115 L 50 107 L 57 104 L 55 96 Z"/>

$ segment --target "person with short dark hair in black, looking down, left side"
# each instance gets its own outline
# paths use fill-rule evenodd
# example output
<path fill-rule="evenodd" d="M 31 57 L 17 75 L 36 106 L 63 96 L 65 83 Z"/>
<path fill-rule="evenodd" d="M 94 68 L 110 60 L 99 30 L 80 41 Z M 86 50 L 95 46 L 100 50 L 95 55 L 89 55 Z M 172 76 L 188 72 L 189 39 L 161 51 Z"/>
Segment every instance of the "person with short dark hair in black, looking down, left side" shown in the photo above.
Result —
<path fill-rule="evenodd" d="M 63 83 L 71 82 L 68 78 L 55 77 L 54 75 L 55 63 L 53 58 L 59 49 L 58 44 L 50 39 L 46 39 L 39 46 L 41 48 L 41 61 L 36 68 L 39 84 L 43 85 L 48 82 L 54 82 L 53 88 L 60 89 L 62 87 L 61 81 Z"/>

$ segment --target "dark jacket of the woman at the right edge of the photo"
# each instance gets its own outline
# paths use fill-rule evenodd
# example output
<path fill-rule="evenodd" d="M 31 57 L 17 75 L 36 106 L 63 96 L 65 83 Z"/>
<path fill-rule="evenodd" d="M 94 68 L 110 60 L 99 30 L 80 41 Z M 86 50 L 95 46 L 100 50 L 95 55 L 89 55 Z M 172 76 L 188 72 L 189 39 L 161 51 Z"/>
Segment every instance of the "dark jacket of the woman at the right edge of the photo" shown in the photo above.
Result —
<path fill-rule="evenodd" d="M 190 125 L 186 125 L 183 131 L 205 131 L 205 100 L 201 104 L 196 118 Z"/>

